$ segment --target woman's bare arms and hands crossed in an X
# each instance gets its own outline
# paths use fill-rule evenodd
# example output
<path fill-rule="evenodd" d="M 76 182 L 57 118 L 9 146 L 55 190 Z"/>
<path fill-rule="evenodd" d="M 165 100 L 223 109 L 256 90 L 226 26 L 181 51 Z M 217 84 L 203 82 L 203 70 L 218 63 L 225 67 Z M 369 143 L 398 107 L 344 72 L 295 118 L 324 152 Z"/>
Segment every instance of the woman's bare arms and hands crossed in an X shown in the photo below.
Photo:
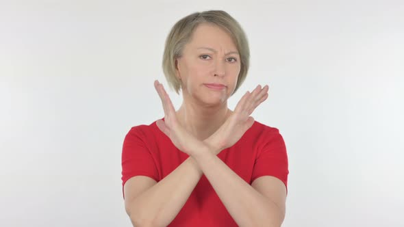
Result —
<path fill-rule="evenodd" d="M 166 114 L 166 121 L 157 122 L 157 126 L 190 157 L 158 183 L 145 176 L 136 176 L 125 183 L 125 209 L 131 222 L 135 226 L 167 226 L 184 206 L 202 174 L 205 174 L 238 226 L 281 226 L 286 202 L 283 183 L 273 176 L 262 176 L 249 185 L 216 156 L 220 150 L 237 142 L 251 126 L 253 119 L 248 118 L 248 111 L 247 118 L 235 116 L 220 127 L 214 136 L 201 142 L 171 122 L 173 116 L 168 115 L 173 111 L 171 101 L 162 85 L 155 84 L 155 87 Z M 260 96 L 261 93 L 260 89 L 255 89 L 251 94 L 247 92 L 240 103 L 251 103 L 248 98 L 254 96 L 257 96 L 257 102 L 262 102 L 264 96 Z M 239 129 L 240 137 L 234 136 L 236 129 Z M 231 137 L 226 136 L 230 135 L 229 132 Z"/>

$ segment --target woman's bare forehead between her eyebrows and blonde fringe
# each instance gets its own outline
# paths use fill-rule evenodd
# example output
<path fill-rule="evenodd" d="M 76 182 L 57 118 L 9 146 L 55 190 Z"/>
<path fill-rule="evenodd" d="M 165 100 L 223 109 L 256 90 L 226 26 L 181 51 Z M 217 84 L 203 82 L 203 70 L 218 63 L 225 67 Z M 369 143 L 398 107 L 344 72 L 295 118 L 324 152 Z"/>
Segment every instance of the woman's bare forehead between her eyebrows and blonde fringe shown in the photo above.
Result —
<path fill-rule="evenodd" d="M 192 34 L 190 46 L 198 48 L 201 46 L 210 47 L 216 50 L 225 49 L 227 51 L 236 51 L 236 44 L 234 44 L 231 36 L 225 30 L 216 26 L 201 24 Z"/>

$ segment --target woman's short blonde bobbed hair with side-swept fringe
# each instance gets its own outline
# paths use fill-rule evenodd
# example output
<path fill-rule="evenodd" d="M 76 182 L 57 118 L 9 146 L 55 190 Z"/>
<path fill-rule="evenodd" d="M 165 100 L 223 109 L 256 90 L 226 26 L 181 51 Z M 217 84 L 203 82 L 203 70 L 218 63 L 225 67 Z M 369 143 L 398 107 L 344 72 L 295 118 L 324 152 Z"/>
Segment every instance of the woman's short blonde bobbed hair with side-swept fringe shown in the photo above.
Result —
<path fill-rule="evenodd" d="M 179 94 L 181 81 L 175 76 L 175 60 L 181 57 L 184 46 L 190 42 L 194 30 L 201 23 L 210 23 L 220 27 L 231 36 L 231 39 L 236 44 L 238 53 L 240 54 L 241 66 L 236 88 L 234 90 L 234 92 L 236 92 L 247 77 L 250 49 L 247 36 L 240 24 L 223 10 L 195 12 L 175 23 L 166 38 L 162 62 L 163 72 L 168 81 L 168 85 Z"/>

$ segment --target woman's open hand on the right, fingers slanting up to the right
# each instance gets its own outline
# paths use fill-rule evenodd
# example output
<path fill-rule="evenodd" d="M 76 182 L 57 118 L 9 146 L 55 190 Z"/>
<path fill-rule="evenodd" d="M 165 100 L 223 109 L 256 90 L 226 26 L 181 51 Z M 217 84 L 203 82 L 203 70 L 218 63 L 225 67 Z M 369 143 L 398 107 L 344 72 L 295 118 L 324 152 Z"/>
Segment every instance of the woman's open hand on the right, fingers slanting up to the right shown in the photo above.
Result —
<path fill-rule="evenodd" d="M 242 96 L 233 113 L 220 128 L 203 142 L 214 150 L 217 155 L 225 148 L 236 144 L 244 133 L 253 125 L 254 118 L 250 115 L 254 109 L 268 98 L 268 85 L 258 85 L 253 92 Z"/>

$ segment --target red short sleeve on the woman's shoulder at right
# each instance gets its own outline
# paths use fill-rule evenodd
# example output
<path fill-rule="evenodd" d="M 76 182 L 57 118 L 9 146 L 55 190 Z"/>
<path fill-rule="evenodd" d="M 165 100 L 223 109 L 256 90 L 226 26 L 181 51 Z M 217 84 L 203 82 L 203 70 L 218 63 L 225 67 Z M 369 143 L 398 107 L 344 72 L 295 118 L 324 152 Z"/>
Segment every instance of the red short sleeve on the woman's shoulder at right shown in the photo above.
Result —
<path fill-rule="evenodd" d="M 260 176 L 279 178 L 288 191 L 288 155 L 286 145 L 278 129 L 264 134 L 263 146 L 257 152 L 251 182 Z"/>

